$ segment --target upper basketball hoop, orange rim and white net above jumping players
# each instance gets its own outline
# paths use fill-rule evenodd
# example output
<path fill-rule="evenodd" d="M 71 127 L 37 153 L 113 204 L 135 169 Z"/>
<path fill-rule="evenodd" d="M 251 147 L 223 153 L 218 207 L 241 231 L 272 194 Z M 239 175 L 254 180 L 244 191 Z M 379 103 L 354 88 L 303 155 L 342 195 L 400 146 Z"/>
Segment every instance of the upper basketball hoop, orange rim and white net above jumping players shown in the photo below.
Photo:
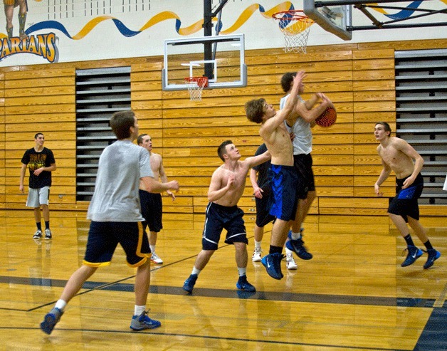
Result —
<path fill-rule="evenodd" d="M 272 17 L 278 21 L 280 31 L 284 34 L 284 51 L 306 53 L 309 29 L 314 21 L 305 16 L 302 10 L 280 11 Z"/>

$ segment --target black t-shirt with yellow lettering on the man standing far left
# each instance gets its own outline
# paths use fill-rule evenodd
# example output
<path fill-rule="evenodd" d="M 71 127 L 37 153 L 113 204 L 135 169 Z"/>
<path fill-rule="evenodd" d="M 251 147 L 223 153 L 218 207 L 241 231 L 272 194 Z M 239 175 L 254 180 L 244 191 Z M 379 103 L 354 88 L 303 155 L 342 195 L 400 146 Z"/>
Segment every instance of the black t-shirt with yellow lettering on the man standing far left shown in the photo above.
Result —
<path fill-rule="evenodd" d="M 43 171 L 38 176 L 33 172 L 41 167 L 50 167 L 54 160 L 53 152 L 46 147 L 43 147 L 41 152 L 34 150 L 34 147 L 26 150 L 23 154 L 21 162 L 28 164 L 29 169 L 29 187 L 31 189 L 39 189 L 43 187 L 51 187 L 51 172 Z"/>

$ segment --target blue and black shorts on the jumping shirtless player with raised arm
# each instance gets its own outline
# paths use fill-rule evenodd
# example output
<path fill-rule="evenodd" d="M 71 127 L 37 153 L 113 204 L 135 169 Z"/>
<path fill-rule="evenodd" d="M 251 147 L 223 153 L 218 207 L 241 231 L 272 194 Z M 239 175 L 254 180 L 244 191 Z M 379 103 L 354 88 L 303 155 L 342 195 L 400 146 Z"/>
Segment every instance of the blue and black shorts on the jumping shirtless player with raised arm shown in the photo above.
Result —
<path fill-rule="evenodd" d="M 270 214 L 283 221 L 294 220 L 298 206 L 296 191 L 299 187 L 295 167 L 272 164 L 268 179 L 272 187 Z"/>

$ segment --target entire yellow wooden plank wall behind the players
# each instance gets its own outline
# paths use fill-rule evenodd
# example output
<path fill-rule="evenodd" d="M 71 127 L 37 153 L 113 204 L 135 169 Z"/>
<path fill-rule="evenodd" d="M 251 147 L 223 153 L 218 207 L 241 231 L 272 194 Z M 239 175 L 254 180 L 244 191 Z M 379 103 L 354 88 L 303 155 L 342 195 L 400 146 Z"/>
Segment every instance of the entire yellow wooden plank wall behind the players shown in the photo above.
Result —
<path fill-rule="evenodd" d="M 178 216 L 203 221 L 211 174 L 221 164 L 218 145 L 231 139 L 243 157 L 253 155 L 262 143 L 259 125 L 246 119 L 243 106 L 263 97 L 278 108 L 280 78 L 295 70 L 307 73 L 303 98 L 326 93 L 338 112 L 334 126 L 312 130 L 317 199 L 310 213 L 386 216 L 394 177 L 382 186 L 386 197 L 375 197 L 382 165 L 374 124 L 384 120 L 396 128 L 394 51 L 446 46 L 447 40 L 433 40 L 314 46 L 305 55 L 286 54 L 281 48 L 246 51 L 248 86 L 204 90 L 201 101 L 190 101 L 186 90 L 162 90 L 162 57 L 0 68 L 0 208 L 24 206 L 26 197 L 18 192 L 20 159 L 33 147 L 37 131 L 45 133 L 46 147 L 54 151 L 58 165 L 52 206 L 87 208 L 87 202 L 75 201 L 75 69 L 131 66 L 132 109 L 140 132 L 151 135 L 167 176 L 181 184 L 176 201 L 163 198 L 165 221 Z M 231 65 L 238 60 L 227 56 L 219 59 L 226 64 L 224 75 L 231 76 Z M 239 204 L 246 220 L 253 221 L 249 181 Z M 421 206 L 421 213 L 446 216 L 447 206 L 436 208 Z"/>

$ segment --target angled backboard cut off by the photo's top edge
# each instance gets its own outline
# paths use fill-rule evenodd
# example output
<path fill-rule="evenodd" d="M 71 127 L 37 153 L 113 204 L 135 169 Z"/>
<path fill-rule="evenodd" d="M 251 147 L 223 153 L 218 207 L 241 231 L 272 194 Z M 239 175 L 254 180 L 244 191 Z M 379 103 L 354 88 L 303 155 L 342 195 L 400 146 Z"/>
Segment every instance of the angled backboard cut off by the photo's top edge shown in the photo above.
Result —
<path fill-rule="evenodd" d="M 304 13 L 310 19 L 318 23 L 320 27 L 330 33 L 334 33 L 343 40 L 351 40 L 352 32 L 347 28 L 352 26 L 352 6 L 346 1 L 317 1 L 304 0 Z"/>

